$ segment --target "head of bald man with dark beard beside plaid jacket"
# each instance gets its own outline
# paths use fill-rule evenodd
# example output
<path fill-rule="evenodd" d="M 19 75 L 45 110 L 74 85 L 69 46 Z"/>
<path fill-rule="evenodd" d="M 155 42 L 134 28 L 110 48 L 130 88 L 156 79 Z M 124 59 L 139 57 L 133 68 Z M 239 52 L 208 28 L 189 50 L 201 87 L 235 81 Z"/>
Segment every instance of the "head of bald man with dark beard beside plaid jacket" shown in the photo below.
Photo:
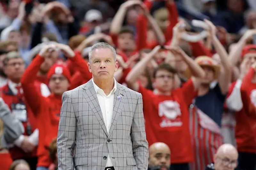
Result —
<path fill-rule="evenodd" d="M 148 170 L 169 170 L 171 151 L 167 144 L 157 142 L 149 147 Z"/>

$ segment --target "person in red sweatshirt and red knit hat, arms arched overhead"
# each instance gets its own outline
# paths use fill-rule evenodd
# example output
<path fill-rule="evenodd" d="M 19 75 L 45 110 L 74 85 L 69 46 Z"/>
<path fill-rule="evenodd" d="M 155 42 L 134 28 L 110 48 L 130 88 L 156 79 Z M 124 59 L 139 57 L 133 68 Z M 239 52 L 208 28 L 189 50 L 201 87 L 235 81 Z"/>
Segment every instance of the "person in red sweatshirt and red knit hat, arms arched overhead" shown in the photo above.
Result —
<path fill-rule="evenodd" d="M 70 88 L 70 72 L 63 64 L 54 64 L 47 73 L 49 88 L 51 90 L 51 95 L 47 98 L 38 92 L 33 83 L 36 80 L 36 73 L 40 69 L 40 65 L 46 58 L 56 56 L 52 54 L 57 49 L 60 49 L 75 66 L 79 67 L 80 65 L 80 68 L 85 68 L 85 71 L 82 72 L 83 75 L 88 70 L 86 69 L 86 62 L 80 55 L 77 55 L 66 45 L 56 44 L 47 45 L 42 48 L 22 76 L 21 85 L 24 96 L 38 120 L 39 144 L 37 151 L 37 170 L 47 170 L 51 163 L 48 147 L 52 139 L 57 137 L 62 93 Z M 82 69 L 80 70 L 82 71 Z"/>

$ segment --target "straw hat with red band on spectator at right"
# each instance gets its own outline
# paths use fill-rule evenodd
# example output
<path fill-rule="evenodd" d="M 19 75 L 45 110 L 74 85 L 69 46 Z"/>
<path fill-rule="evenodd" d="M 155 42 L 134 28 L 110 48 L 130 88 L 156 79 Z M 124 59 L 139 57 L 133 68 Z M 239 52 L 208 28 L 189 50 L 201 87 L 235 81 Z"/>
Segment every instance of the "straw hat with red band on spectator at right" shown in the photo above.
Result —
<path fill-rule="evenodd" d="M 220 75 L 220 65 L 217 64 L 211 57 L 208 56 L 199 56 L 196 57 L 195 62 L 200 66 L 211 67 L 214 70 L 213 78 L 216 80 Z"/>

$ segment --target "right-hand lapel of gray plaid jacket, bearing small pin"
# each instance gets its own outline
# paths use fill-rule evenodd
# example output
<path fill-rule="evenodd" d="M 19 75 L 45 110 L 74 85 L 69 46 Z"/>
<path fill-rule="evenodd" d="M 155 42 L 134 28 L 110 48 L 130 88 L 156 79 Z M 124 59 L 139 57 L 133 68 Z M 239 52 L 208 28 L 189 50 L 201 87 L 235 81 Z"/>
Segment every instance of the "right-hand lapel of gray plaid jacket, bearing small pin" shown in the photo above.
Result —
<path fill-rule="evenodd" d="M 120 99 L 120 97 L 122 98 Z M 113 115 L 112 115 L 112 122 L 111 122 L 111 127 L 109 129 L 109 135 L 113 131 L 114 127 L 116 126 L 117 119 L 119 115 L 121 114 L 121 111 L 123 109 L 124 105 L 124 99 L 125 99 L 125 92 L 123 91 L 123 87 L 116 82 L 116 92 L 114 94 L 114 106 L 113 106 Z M 117 99 L 119 98 L 119 100 Z"/>

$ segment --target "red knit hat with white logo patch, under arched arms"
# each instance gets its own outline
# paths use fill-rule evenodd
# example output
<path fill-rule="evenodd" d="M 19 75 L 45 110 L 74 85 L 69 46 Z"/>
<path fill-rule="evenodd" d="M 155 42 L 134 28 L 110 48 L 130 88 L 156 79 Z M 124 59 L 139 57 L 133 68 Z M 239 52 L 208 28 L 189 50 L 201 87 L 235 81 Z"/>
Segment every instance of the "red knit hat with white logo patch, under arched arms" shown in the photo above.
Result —
<path fill-rule="evenodd" d="M 54 64 L 47 73 L 47 78 L 50 79 L 53 74 L 62 74 L 70 82 L 71 75 L 68 68 L 63 64 Z"/>

